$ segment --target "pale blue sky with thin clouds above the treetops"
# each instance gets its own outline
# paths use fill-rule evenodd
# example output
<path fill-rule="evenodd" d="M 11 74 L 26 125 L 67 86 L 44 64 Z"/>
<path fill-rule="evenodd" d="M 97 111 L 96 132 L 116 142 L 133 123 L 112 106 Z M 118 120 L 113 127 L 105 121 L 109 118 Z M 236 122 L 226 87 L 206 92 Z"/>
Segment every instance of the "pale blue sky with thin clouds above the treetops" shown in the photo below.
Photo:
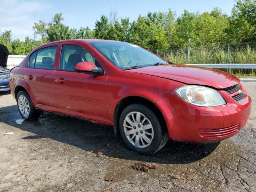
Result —
<path fill-rule="evenodd" d="M 0 30 L 12 30 L 12 39 L 34 38 L 32 26 L 42 20 L 50 22 L 54 14 L 62 12 L 63 23 L 70 28 L 89 26 L 94 29 L 101 15 L 109 15 L 116 8 L 118 17 L 136 20 L 148 12 L 167 12 L 170 8 L 177 16 L 189 12 L 211 12 L 219 7 L 228 15 L 235 0 L 0 0 Z"/>

